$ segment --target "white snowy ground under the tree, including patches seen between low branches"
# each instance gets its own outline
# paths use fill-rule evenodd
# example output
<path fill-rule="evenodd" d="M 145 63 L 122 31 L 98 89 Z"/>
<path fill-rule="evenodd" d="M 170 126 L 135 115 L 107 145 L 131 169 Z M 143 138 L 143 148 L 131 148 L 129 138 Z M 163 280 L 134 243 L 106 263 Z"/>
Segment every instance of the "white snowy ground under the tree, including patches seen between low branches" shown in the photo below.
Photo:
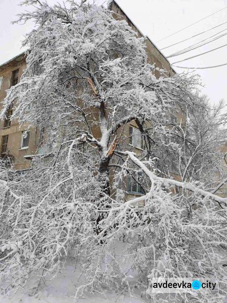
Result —
<path fill-rule="evenodd" d="M 125 243 L 117 242 L 115 248 L 115 256 L 120 258 L 124 254 Z M 107 290 L 102 293 L 89 294 L 86 293 L 84 297 L 74 299 L 76 285 L 81 281 L 81 268 L 76 262 L 74 252 L 69 251 L 65 269 L 62 274 L 51 280 L 51 276 L 45 277 L 42 280 L 37 290 L 37 277 L 31 279 L 26 286 L 26 289 L 20 290 L 14 297 L 2 297 L 0 295 L 0 303 L 152 303 L 153 300 L 146 298 L 145 289 L 136 289 L 133 295 L 122 292 L 121 294 L 111 293 Z M 130 264 L 127 264 L 129 269 L 128 274 L 134 276 L 136 280 L 136 273 L 130 270 Z M 133 277 L 132 277 L 133 278 Z M 36 287 L 34 288 L 34 285 Z M 227 297 L 222 303 L 227 303 Z"/>

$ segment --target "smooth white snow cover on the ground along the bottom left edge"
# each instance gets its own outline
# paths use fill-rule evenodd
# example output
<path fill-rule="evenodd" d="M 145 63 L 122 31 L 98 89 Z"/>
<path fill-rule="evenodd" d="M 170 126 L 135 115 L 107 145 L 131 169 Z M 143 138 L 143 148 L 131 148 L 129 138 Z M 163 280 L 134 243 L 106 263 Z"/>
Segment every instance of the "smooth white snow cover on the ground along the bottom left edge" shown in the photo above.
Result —
<path fill-rule="evenodd" d="M 69 258 L 62 275 L 53 280 L 46 278 L 45 283 L 40 284 L 39 290 L 34 294 L 32 282 L 30 281 L 27 289 L 21 290 L 15 297 L 1 297 L 1 303 L 73 303 L 75 284 L 78 280 L 78 270 L 75 271 L 75 259 Z M 104 294 L 87 294 L 85 298 L 77 299 L 78 303 L 142 303 L 150 302 L 144 296 L 141 298 L 141 292 L 137 290 L 134 296 L 127 294 L 114 294 L 105 292 Z"/>

